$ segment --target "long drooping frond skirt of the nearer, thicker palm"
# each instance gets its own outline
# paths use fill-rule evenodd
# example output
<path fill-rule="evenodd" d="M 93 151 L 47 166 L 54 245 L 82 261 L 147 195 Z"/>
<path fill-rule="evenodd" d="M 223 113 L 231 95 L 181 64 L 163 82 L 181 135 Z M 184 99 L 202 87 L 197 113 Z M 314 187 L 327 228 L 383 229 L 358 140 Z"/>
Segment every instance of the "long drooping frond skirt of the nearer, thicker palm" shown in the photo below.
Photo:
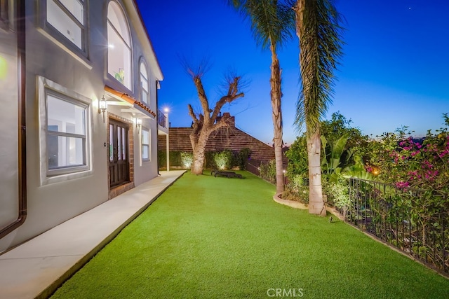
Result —
<path fill-rule="evenodd" d="M 344 28 L 333 0 L 298 0 L 295 11 L 301 71 L 295 124 L 299 130 L 305 124 L 307 134 L 314 134 L 332 103 Z"/>

